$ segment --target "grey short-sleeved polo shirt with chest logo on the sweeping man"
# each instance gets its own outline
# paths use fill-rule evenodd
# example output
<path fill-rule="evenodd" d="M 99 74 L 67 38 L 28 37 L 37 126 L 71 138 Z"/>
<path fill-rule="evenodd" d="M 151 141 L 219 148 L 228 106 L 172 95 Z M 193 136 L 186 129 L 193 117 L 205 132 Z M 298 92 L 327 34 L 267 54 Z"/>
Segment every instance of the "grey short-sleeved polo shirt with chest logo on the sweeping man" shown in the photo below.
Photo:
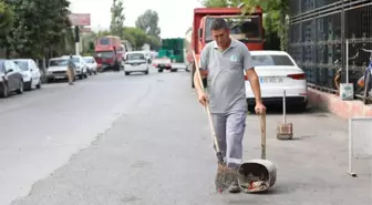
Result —
<path fill-rule="evenodd" d="M 211 113 L 247 111 L 245 72 L 252 69 L 248 48 L 231 39 L 230 47 L 221 51 L 215 41 L 206 44 L 200 54 L 200 69 L 208 71 Z"/>

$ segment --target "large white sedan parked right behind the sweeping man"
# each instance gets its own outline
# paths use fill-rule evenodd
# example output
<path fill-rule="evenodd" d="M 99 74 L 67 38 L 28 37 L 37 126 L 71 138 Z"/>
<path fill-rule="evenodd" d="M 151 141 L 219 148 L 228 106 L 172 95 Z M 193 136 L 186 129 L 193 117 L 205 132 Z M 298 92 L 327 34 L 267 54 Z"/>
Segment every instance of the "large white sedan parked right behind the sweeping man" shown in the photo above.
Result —
<path fill-rule="evenodd" d="M 306 110 L 308 86 L 304 72 L 283 51 L 250 51 L 252 64 L 259 78 L 265 104 L 281 104 L 286 90 L 286 104 Z M 248 105 L 255 104 L 249 81 L 246 81 Z"/>

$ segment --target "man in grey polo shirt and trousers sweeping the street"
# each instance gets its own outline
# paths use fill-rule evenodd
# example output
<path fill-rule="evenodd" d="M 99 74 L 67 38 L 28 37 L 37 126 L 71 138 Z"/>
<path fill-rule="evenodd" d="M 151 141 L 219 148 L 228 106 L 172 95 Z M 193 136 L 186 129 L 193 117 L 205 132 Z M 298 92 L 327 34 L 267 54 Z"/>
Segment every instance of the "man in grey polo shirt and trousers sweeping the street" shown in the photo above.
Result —
<path fill-rule="evenodd" d="M 204 106 L 207 102 L 209 104 L 225 163 L 237 171 L 241 164 L 242 137 L 248 113 L 245 74 L 256 96 L 256 113 L 264 113 L 266 107 L 261 101 L 260 85 L 248 48 L 229 37 L 230 30 L 224 19 L 215 19 L 210 23 L 210 31 L 214 41 L 203 49 L 199 68 L 202 76 L 207 79 L 207 93 L 204 93 L 199 84 L 197 72 L 194 75 L 194 84 L 199 102 Z M 240 192 L 237 177 L 228 191 Z"/>

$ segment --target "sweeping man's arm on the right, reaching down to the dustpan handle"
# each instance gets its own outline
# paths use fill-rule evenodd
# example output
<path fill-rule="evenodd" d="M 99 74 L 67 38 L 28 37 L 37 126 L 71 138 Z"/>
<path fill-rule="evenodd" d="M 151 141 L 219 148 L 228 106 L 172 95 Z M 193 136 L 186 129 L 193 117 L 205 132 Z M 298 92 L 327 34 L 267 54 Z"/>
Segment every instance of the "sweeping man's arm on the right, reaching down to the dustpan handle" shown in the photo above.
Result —
<path fill-rule="evenodd" d="M 260 89 L 258 75 L 255 71 L 255 68 L 252 65 L 252 60 L 250 57 L 250 52 L 247 48 L 244 48 L 242 50 L 242 61 L 244 61 L 242 64 L 246 71 L 246 75 L 249 80 L 250 88 L 252 89 L 255 98 L 256 98 L 256 104 L 262 103 L 261 89 Z"/>

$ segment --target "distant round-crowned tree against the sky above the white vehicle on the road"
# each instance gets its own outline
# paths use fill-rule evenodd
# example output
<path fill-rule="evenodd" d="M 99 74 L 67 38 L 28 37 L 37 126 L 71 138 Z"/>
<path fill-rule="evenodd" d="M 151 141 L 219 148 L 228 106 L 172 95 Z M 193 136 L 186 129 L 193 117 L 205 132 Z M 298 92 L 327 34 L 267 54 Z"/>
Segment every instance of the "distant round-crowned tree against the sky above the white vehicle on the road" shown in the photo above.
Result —
<path fill-rule="evenodd" d="M 158 28 L 158 20 L 156 11 L 146 10 L 137 18 L 135 25 L 136 28 L 143 30 L 146 34 L 159 39 L 161 29 Z"/>

